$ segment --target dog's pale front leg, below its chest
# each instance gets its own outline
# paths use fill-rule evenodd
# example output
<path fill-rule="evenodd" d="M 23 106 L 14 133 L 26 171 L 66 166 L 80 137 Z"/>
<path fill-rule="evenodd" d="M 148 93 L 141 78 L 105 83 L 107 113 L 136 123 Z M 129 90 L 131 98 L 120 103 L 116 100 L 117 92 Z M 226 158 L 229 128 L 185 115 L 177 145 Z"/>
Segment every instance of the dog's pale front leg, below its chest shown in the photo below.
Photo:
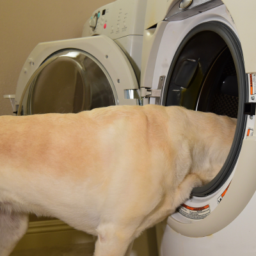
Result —
<path fill-rule="evenodd" d="M 129 256 L 129 244 L 134 239 L 131 228 L 128 230 L 110 224 L 100 226 L 97 228 L 98 239 L 94 256 Z"/>

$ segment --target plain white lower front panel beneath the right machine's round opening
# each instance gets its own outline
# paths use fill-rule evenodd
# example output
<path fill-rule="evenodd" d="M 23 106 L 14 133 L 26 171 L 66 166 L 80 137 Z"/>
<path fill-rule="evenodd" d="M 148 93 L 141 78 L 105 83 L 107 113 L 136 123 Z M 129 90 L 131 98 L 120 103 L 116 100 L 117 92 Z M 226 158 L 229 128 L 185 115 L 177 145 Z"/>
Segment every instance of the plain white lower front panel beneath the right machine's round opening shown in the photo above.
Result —
<path fill-rule="evenodd" d="M 164 232 L 159 256 L 197 256 L 198 253 L 209 256 L 254 256 L 256 253 L 255 211 L 256 195 L 253 195 L 236 220 L 219 232 L 206 237 L 182 236 L 166 223 L 161 223 L 157 227 L 158 234 Z"/>

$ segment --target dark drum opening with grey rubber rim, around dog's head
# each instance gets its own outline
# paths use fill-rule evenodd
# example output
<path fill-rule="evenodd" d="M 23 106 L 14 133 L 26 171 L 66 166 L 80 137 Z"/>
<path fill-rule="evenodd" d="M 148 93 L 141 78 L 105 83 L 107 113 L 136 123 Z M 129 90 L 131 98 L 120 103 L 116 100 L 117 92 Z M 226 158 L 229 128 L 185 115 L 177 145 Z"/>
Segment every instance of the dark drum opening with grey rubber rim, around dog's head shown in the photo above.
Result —
<path fill-rule="evenodd" d="M 232 173 L 244 137 L 246 95 L 243 53 L 234 31 L 214 21 L 192 29 L 173 58 L 162 104 L 237 118 L 234 141 L 225 164 L 209 184 L 193 189 L 192 195 L 211 195 Z"/>

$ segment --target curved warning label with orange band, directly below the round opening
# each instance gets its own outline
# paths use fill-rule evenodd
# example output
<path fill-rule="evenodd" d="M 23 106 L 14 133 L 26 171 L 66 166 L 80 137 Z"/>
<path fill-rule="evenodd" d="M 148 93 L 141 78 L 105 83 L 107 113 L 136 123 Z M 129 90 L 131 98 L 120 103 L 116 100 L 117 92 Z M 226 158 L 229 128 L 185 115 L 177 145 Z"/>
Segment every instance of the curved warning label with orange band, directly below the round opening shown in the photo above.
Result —
<path fill-rule="evenodd" d="M 182 204 L 177 211 L 184 217 L 192 220 L 202 220 L 211 213 L 209 204 L 203 207 L 191 207 L 186 204 Z"/>

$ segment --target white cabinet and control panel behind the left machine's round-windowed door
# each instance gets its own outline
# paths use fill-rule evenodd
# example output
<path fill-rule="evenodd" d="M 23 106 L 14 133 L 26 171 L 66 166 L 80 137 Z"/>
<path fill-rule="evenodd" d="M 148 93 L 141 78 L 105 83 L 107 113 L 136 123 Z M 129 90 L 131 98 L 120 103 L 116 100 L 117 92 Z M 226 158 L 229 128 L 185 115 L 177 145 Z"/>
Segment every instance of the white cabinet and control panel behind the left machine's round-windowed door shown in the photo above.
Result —
<path fill-rule="evenodd" d="M 140 81 L 141 52 L 147 0 L 118 0 L 100 7 L 86 21 L 82 36 L 106 35 L 125 52 Z M 102 15 L 104 13 L 104 15 Z M 90 21 L 97 18 L 95 29 Z"/>

